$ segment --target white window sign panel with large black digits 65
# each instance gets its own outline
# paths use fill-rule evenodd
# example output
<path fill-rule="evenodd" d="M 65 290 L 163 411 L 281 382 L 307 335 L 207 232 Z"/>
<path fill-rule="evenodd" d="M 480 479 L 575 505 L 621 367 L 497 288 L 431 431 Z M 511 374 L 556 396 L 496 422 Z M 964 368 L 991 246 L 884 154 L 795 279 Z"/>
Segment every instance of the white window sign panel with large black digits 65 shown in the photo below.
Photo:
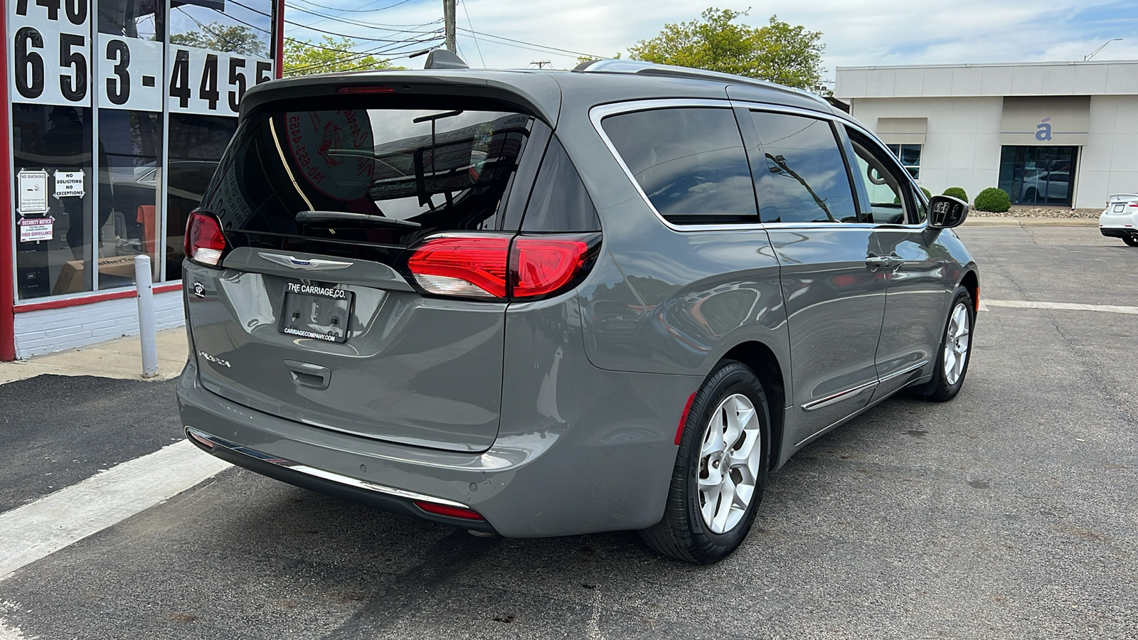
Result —
<path fill-rule="evenodd" d="M 91 0 L 6 0 L 9 99 L 91 106 Z"/>

